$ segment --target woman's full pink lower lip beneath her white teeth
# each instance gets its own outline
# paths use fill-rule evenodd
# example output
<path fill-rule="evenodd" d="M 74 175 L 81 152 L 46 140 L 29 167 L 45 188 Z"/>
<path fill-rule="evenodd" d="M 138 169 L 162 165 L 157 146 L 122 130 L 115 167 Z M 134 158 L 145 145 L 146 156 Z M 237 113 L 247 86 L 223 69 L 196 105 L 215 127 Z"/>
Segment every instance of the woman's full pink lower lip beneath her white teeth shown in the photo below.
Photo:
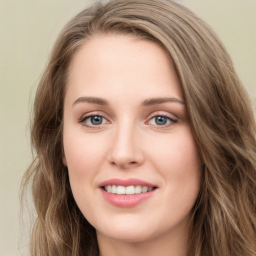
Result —
<path fill-rule="evenodd" d="M 152 196 L 157 189 L 138 194 L 113 194 L 100 188 L 106 201 L 117 207 L 132 207 Z"/>

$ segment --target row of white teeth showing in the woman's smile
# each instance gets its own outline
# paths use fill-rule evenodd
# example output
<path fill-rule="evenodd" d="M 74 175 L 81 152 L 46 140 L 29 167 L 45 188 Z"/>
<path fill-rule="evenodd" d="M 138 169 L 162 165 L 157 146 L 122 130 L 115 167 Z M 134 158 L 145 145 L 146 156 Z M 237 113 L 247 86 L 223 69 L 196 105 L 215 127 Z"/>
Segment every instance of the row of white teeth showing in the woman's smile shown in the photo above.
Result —
<path fill-rule="evenodd" d="M 136 185 L 136 186 L 120 186 L 120 185 L 107 185 L 104 186 L 105 190 L 108 193 L 114 193 L 114 194 L 139 194 L 139 193 L 145 193 L 153 190 L 152 186 L 141 186 L 141 185 Z"/>

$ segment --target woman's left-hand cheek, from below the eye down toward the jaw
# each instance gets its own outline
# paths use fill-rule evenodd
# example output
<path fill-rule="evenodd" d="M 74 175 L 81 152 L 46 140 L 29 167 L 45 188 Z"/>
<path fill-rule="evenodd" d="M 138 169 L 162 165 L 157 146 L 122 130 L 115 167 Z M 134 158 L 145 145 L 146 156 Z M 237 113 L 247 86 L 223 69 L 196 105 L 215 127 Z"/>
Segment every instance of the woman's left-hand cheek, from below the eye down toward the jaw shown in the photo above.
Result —
<path fill-rule="evenodd" d="M 76 134 L 76 135 L 74 135 Z M 63 134 L 64 154 L 67 162 L 70 187 L 74 199 L 84 215 L 90 216 L 94 209 L 95 176 L 102 164 L 102 141 L 75 132 Z"/>

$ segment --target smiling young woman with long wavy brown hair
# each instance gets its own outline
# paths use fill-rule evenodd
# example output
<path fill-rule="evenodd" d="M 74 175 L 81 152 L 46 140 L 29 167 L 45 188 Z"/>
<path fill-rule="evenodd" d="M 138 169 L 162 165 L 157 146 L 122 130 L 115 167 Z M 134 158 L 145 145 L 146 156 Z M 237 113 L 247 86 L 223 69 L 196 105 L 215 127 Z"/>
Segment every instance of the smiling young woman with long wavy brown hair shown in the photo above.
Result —
<path fill-rule="evenodd" d="M 69 21 L 31 142 L 31 255 L 255 255 L 250 101 L 184 6 L 94 2 Z"/>

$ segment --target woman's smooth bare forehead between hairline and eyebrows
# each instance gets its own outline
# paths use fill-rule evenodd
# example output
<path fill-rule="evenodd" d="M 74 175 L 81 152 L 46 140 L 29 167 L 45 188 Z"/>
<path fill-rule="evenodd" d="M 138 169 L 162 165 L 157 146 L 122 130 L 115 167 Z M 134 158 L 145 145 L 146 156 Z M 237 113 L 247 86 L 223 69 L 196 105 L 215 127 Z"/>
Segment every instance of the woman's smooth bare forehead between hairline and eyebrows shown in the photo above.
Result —
<path fill-rule="evenodd" d="M 131 35 L 98 36 L 85 42 L 70 64 L 67 94 L 73 98 L 86 94 L 83 96 L 182 99 L 165 51 Z"/>

